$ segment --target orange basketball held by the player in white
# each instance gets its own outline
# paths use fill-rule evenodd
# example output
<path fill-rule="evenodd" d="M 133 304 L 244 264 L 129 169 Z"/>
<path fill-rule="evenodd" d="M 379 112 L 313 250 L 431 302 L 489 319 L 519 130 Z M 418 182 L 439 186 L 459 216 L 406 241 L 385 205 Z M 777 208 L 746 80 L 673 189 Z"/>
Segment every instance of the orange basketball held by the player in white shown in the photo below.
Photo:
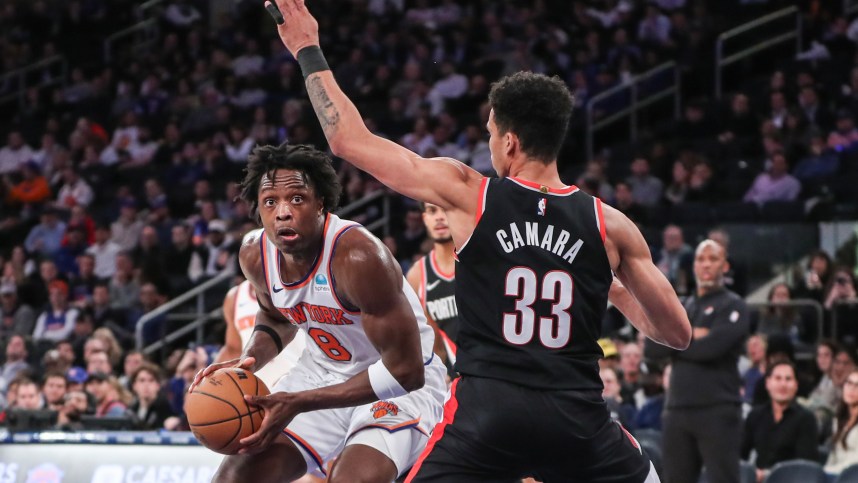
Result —
<path fill-rule="evenodd" d="M 244 395 L 266 396 L 268 387 L 244 369 L 215 371 L 185 398 L 188 424 L 197 440 L 221 454 L 235 454 L 239 441 L 255 433 L 262 423 L 261 408 L 254 408 Z"/>

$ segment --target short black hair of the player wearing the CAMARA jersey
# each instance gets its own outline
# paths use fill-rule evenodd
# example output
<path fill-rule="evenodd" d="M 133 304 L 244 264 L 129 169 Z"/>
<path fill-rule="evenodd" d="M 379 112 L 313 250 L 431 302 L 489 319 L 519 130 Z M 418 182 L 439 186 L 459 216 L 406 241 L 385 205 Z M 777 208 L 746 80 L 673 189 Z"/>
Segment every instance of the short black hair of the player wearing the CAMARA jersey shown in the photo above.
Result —
<path fill-rule="evenodd" d="M 489 104 L 500 134 L 512 131 L 522 151 L 546 163 L 557 159 L 575 101 L 557 76 L 517 72 L 492 84 Z"/>

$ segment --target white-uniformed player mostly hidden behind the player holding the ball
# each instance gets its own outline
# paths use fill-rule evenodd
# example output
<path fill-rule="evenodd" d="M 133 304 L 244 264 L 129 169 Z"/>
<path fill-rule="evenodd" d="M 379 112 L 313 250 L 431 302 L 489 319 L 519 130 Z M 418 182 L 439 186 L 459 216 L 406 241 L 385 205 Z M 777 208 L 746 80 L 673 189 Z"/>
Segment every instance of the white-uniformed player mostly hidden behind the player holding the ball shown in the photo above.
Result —
<path fill-rule="evenodd" d="M 229 289 L 223 299 L 223 318 L 226 321 L 226 335 L 221 351 L 215 358 L 215 363 L 236 359 L 241 356 L 241 349 L 250 340 L 253 326 L 256 323 L 256 313 L 259 304 L 256 302 L 256 292 L 253 284 L 247 280 Z M 274 387 L 278 379 L 286 375 L 298 363 L 298 358 L 304 352 L 306 337 L 297 334 L 295 339 L 277 354 L 265 367 L 256 371 L 256 376 L 262 379 L 269 388 Z"/>

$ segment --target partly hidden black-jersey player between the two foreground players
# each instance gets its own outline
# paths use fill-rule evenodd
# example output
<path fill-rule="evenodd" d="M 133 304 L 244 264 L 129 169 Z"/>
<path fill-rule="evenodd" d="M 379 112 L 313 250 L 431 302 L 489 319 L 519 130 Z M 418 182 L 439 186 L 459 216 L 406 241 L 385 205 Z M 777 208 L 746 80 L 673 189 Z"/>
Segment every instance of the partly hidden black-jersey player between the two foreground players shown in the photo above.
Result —
<path fill-rule="evenodd" d="M 447 213 L 432 203 L 420 203 L 423 224 L 432 239 L 432 251 L 415 263 L 405 278 L 420 297 L 426 320 L 435 329 L 435 353 L 452 377 L 456 362 L 459 310 L 456 307 L 456 271 L 453 237 Z"/>

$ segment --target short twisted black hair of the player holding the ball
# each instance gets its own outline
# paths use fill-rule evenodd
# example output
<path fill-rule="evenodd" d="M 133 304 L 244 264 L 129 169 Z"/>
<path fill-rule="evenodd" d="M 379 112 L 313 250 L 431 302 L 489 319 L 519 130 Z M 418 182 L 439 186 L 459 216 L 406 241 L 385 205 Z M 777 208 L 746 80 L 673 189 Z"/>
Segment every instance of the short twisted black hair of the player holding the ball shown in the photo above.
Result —
<path fill-rule="evenodd" d="M 278 169 L 292 169 L 304 174 L 304 181 L 322 198 L 325 212 L 333 211 L 340 203 L 342 186 L 327 154 L 306 144 L 256 146 L 247 158 L 244 179 L 241 182 L 241 199 L 250 206 L 252 216 L 259 218 L 259 185 L 266 174 L 274 176 Z"/>

